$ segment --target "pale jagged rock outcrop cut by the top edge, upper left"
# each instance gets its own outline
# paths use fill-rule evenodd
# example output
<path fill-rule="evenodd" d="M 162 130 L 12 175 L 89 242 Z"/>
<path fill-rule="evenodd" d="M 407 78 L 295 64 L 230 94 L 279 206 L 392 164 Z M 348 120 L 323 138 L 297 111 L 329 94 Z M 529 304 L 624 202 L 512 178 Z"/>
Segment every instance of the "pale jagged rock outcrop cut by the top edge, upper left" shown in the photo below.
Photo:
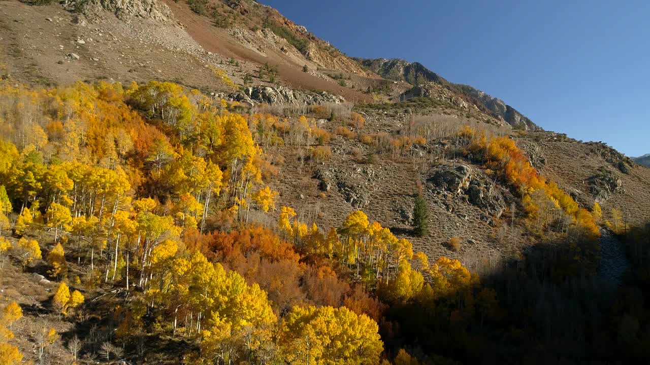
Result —
<path fill-rule="evenodd" d="M 101 12 L 115 14 L 119 19 L 129 23 L 134 18 L 172 21 L 174 14 L 169 6 L 158 0 L 64 0 L 64 8 L 75 10 L 89 19 L 96 19 Z"/>

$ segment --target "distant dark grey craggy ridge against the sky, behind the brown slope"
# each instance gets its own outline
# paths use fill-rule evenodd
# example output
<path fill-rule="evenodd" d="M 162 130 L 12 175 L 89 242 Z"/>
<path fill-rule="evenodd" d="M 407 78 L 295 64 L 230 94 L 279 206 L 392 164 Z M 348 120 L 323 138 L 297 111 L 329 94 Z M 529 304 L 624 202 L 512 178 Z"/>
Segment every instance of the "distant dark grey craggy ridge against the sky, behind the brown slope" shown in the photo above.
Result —
<path fill-rule="evenodd" d="M 385 79 L 405 81 L 413 85 L 411 90 L 401 95 L 402 99 L 422 96 L 434 97 L 436 92 L 426 84 L 427 82 L 434 82 L 454 92 L 487 114 L 504 120 L 515 128 L 525 129 L 526 131 L 539 129 L 538 125 L 526 118 L 515 108 L 504 103 L 504 101 L 496 97 L 491 97 L 472 86 L 449 82 L 419 62 L 408 62 L 398 58 L 355 58 L 355 60 Z"/>

